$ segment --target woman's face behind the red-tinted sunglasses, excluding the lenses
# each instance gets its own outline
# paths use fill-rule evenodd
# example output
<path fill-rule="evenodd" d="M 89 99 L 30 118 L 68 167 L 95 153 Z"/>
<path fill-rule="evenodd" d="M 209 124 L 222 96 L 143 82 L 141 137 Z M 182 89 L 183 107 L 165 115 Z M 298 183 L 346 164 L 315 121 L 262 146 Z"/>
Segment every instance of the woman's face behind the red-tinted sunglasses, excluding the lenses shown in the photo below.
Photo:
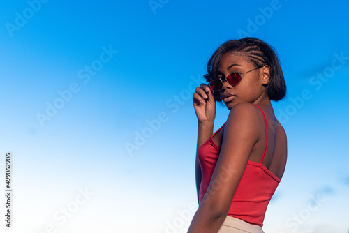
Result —
<path fill-rule="evenodd" d="M 266 88 L 262 84 L 267 84 L 267 80 L 269 80 L 269 67 L 255 68 L 257 68 L 255 64 L 248 61 L 243 53 L 227 52 L 223 54 L 218 66 L 218 78 L 224 80 L 232 73 L 242 74 L 252 70 L 241 75 L 241 82 L 234 87 L 228 82 L 223 82 L 223 89 L 219 91 L 219 95 L 229 110 L 237 103 L 260 103 L 265 97 Z M 263 93 L 265 94 L 263 95 Z"/>

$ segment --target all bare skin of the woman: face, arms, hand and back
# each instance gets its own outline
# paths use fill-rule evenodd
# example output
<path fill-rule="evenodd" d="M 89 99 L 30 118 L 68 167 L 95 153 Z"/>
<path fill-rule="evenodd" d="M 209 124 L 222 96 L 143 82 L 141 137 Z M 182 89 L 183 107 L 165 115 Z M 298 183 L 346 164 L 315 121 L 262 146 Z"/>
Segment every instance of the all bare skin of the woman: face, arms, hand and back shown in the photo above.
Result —
<path fill-rule="evenodd" d="M 223 55 L 218 70 L 224 78 L 231 73 L 244 73 L 253 68 L 256 68 L 255 64 L 243 53 L 229 52 Z M 223 89 L 219 91 L 230 113 L 225 126 L 213 137 L 221 150 L 209 188 L 195 213 L 189 233 L 218 232 L 228 215 L 232 197 L 248 160 L 260 162 L 266 142 L 265 122 L 262 112 L 255 105 L 265 112 L 268 125 L 268 147 L 262 164 L 279 179 L 283 176 L 287 159 L 287 138 L 267 95 L 265 84 L 268 84 L 269 77 L 270 67 L 263 66 L 242 75 L 242 81 L 235 87 L 224 82 Z M 200 148 L 213 133 L 216 103 L 211 89 L 205 84 L 197 87 L 193 94 L 193 103 L 198 117 L 197 146 Z M 198 158 L 196 160 L 199 190 L 201 169 Z M 212 183 L 216 185 L 211 185 Z"/>

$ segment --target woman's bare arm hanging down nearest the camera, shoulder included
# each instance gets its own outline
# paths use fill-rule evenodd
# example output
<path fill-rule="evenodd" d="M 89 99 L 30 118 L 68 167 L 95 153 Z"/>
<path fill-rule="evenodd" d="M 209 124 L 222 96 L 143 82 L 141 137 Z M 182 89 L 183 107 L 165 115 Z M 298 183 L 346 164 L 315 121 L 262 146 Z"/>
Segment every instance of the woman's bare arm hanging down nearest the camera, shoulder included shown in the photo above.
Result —
<path fill-rule="evenodd" d="M 253 146 L 262 135 L 258 111 L 250 103 L 240 103 L 230 111 L 214 174 L 188 232 L 212 233 L 221 227 Z"/>

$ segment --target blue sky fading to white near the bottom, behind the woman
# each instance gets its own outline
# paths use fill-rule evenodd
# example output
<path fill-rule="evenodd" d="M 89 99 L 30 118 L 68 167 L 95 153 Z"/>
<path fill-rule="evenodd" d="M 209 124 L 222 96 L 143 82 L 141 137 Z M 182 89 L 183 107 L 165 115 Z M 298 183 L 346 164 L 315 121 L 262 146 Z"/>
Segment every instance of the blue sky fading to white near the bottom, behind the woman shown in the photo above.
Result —
<path fill-rule="evenodd" d="M 348 7 L 3 1 L 0 172 L 11 151 L 13 232 L 186 232 L 197 207 L 191 95 L 214 50 L 241 36 L 276 48 L 288 85 L 273 103 L 288 165 L 265 232 L 347 232 Z M 218 105 L 215 130 L 227 116 Z"/>

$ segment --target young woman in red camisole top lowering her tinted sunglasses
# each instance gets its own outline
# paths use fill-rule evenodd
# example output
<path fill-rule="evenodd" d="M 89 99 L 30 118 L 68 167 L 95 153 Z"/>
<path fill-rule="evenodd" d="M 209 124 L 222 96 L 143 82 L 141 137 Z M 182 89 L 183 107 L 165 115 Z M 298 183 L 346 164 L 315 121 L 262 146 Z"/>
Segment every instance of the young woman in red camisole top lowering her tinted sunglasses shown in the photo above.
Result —
<path fill-rule="evenodd" d="M 270 100 L 286 86 L 272 47 L 257 38 L 223 43 L 193 94 L 198 117 L 199 208 L 188 232 L 263 232 L 269 200 L 285 170 L 287 140 Z M 213 132 L 216 101 L 227 121 Z"/>

